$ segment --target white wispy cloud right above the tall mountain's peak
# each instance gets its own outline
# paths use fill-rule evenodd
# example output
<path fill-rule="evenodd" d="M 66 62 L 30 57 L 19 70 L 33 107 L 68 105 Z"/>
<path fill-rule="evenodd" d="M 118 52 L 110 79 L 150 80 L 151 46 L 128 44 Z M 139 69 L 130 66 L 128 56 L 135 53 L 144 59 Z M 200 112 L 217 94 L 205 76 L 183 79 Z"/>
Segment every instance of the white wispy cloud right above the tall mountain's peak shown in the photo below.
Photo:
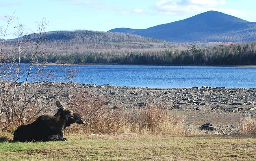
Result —
<path fill-rule="evenodd" d="M 237 9 L 219 9 L 226 4 L 225 0 L 160 0 L 154 5 L 157 14 L 197 14 L 210 10 L 224 12 L 236 16 L 246 15 L 247 13 Z"/>

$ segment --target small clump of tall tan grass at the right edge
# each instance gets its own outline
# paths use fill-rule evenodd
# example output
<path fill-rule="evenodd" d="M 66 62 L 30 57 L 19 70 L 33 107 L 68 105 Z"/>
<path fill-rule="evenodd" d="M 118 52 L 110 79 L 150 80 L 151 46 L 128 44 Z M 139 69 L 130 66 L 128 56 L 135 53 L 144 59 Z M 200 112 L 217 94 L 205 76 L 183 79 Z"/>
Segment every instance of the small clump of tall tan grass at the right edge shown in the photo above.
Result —
<path fill-rule="evenodd" d="M 239 132 L 243 136 L 256 136 L 256 117 L 247 115 L 241 118 Z"/>

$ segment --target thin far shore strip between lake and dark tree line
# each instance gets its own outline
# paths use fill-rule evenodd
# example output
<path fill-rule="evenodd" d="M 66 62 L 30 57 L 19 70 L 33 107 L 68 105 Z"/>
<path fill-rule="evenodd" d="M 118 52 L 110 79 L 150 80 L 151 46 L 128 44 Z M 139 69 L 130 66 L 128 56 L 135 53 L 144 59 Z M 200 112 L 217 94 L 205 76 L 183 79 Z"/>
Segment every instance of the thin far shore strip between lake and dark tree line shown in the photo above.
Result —
<path fill-rule="evenodd" d="M 26 63 L 22 63 L 26 64 Z M 169 64 L 118 64 L 118 63 L 87 63 L 87 64 L 65 64 L 65 63 L 34 63 L 33 65 L 152 65 L 152 66 L 191 66 L 191 67 L 256 67 L 255 65 L 169 65 Z"/>

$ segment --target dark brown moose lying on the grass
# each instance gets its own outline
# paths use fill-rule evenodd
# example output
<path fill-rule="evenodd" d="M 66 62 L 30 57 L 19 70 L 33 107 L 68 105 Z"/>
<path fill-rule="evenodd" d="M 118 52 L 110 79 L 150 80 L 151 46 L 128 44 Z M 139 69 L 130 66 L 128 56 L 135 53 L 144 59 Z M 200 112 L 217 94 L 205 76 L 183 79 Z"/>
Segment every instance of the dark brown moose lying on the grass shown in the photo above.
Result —
<path fill-rule="evenodd" d="M 72 123 L 83 124 L 85 118 L 69 110 L 59 101 L 54 116 L 39 116 L 33 123 L 21 125 L 13 134 L 13 141 L 67 141 L 62 131 Z"/>

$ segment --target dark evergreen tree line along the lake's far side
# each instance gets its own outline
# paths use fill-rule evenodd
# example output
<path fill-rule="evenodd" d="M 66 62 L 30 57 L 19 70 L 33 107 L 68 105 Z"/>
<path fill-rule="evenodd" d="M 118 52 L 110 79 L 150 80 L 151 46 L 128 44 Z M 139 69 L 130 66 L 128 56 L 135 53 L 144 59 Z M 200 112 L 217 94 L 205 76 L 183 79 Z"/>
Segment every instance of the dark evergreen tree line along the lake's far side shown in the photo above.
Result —
<path fill-rule="evenodd" d="M 17 60 L 16 60 L 17 61 Z M 20 63 L 29 63 L 29 55 L 20 58 Z M 175 48 L 163 51 L 123 54 L 74 53 L 65 55 L 48 54 L 38 56 L 36 63 L 116 63 L 153 65 L 251 65 L 256 64 L 256 42 L 244 44 L 217 45 L 213 48 L 198 48 L 191 44 L 186 50 Z"/>

